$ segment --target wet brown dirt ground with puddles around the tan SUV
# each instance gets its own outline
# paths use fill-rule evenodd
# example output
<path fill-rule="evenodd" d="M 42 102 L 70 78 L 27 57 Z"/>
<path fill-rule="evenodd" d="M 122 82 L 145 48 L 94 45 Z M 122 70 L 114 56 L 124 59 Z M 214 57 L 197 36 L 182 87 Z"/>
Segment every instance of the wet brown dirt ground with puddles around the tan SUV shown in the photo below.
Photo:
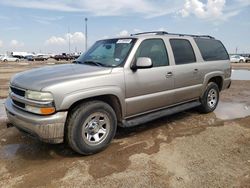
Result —
<path fill-rule="evenodd" d="M 0 64 L 0 97 L 11 75 L 39 66 Z M 215 112 L 119 128 L 105 151 L 87 157 L 6 128 L 0 100 L 0 187 L 250 187 L 249 96 L 250 81 L 233 81 Z"/>

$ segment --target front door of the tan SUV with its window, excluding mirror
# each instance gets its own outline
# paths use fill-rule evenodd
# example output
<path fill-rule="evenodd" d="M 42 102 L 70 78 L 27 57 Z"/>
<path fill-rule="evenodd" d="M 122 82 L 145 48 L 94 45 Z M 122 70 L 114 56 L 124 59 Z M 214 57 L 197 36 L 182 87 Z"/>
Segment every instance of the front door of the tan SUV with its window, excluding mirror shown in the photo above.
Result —
<path fill-rule="evenodd" d="M 163 108 L 173 101 L 173 67 L 169 66 L 164 41 L 145 39 L 138 47 L 133 63 L 138 57 L 149 57 L 153 67 L 125 70 L 127 116 Z"/>

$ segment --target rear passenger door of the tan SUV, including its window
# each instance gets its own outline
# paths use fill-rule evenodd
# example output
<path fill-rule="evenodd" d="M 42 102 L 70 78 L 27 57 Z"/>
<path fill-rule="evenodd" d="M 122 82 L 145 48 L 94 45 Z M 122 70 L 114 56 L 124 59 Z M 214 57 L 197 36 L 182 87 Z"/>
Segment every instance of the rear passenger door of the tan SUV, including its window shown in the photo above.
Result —
<path fill-rule="evenodd" d="M 170 39 L 175 66 L 173 70 L 174 103 L 196 99 L 202 90 L 202 74 L 194 49 L 188 39 Z"/>

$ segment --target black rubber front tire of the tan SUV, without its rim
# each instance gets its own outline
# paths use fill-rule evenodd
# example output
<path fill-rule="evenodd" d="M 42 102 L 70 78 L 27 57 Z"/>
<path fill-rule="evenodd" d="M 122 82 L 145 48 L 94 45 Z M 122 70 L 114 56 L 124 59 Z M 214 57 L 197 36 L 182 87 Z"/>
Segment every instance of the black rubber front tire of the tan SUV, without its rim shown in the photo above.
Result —
<path fill-rule="evenodd" d="M 82 138 L 83 123 L 89 117 L 89 115 L 95 112 L 105 113 L 108 116 L 110 120 L 110 131 L 105 140 L 103 140 L 100 144 L 88 145 Z M 105 149 L 116 133 L 117 120 L 115 112 L 108 104 L 104 102 L 95 102 L 89 105 L 84 105 L 84 108 L 80 107 L 73 121 L 72 139 L 74 139 L 74 143 L 78 148 L 77 152 L 80 152 L 81 154 L 93 154 Z"/>

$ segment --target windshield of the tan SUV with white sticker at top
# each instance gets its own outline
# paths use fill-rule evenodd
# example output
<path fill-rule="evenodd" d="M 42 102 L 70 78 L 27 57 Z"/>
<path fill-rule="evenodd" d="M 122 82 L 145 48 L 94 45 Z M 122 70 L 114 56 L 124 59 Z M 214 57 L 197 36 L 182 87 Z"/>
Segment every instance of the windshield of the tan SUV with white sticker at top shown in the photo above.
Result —
<path fill-rule="evenodd" d="M 75 63 L 94 66 L 117 67 L 126 60 L 136 39 L 107 39 L 97 41 Z"/>

